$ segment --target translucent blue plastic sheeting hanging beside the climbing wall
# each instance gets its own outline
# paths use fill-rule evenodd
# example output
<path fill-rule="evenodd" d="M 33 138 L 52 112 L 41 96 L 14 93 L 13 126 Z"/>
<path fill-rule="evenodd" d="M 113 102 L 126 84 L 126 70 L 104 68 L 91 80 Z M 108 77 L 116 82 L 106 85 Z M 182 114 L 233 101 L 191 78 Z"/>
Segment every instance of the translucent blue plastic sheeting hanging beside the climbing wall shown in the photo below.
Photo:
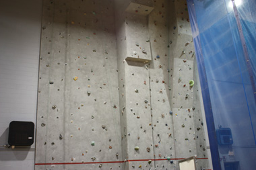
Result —
<path fill-rule="evenodd" d="M 187 5 L 214 170 L 256 169 L 256 1 Z M 223 128 L 232 144 L 218 142 Z"/>

